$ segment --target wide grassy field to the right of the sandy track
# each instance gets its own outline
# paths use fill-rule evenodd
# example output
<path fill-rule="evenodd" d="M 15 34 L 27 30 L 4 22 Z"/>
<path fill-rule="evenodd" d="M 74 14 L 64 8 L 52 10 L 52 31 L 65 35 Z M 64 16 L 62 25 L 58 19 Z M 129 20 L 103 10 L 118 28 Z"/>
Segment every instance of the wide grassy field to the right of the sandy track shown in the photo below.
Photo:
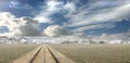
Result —
<path fill-rule="evenodd" d="M 51 45 L 77 63 L 130 63 L 130 45 Z"/>

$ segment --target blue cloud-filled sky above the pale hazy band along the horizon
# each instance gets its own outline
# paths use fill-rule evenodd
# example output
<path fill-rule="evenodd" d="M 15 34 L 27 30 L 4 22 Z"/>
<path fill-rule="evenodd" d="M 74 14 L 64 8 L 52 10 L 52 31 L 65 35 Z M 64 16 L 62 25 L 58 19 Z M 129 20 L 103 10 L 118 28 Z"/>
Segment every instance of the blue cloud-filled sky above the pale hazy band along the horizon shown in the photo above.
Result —
<path fill-rule="evenodd" d="M 0 36 L 130 32 L 130 0 L 0 0 Z"/>

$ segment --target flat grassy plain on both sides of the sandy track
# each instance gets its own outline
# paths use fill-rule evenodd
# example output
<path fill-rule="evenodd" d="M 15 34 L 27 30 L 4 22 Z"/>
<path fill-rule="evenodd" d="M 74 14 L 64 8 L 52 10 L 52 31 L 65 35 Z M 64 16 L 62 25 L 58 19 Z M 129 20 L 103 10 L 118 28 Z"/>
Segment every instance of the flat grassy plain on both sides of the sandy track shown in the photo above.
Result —
<path fill-rule="evenodd" d="M 12 63 L 40 45 L 0 45 L 0 63 Z M 48 45 L 77 63 L 130 63 L 130 45 Z"/>

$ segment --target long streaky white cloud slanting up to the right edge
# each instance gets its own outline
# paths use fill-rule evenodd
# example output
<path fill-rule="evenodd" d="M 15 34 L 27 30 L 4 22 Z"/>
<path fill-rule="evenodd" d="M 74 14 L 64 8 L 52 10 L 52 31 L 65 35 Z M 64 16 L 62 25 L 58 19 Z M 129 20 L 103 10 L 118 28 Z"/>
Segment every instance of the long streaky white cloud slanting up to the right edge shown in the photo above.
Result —
<path fill-rule="evenodd" d="M 83 14 L 77 14 L 74 17 L 72 17 L 70 24 L 66 24 L 67 27 L 74 27 L 74 26 L 83 26 L 88 24 L 96 24 L 102 22 L 118 22 L 120 18 L 127 18 L 129 17 L 130 13 L 130 4 L 125 4 L 118 8 L 114 8 L 110 10 L 106 10 L 105 12 L 99 12 L 91 15 Z M 77 20 L 78 18 L 78 20 Z"/>

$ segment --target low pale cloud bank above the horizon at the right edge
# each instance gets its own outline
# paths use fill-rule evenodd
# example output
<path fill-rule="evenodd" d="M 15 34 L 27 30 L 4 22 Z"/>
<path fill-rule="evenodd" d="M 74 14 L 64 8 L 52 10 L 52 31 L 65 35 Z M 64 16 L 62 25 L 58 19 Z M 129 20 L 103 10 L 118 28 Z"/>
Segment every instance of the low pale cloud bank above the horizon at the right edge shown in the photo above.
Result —
<path fill-rule="evenodd" d="M 128 42 L 130 41 L 130 32 L 121 33 L 121 34 L 103 34 L 98 37 L 93 37 L 94 41 L 105 41 L 107 43 L 114 43 L 114 42 Z"/>

